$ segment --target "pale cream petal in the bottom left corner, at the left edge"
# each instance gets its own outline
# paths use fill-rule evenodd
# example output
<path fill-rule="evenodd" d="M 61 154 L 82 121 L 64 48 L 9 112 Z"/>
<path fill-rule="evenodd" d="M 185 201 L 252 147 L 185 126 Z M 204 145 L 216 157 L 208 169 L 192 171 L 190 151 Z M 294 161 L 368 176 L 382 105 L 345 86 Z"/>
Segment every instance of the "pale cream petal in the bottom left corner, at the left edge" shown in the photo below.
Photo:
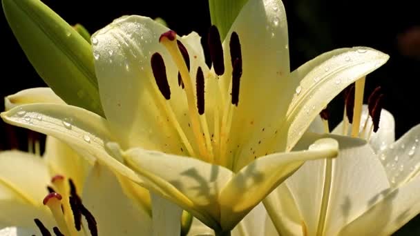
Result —
<path fill-rule="evenodd" d="M 50 212 L 42 204 L 50 184 L 41 157 L 19 151 L 0 153 L 0 227 L 36 229 L 35 218 L 53 226 Z"/>

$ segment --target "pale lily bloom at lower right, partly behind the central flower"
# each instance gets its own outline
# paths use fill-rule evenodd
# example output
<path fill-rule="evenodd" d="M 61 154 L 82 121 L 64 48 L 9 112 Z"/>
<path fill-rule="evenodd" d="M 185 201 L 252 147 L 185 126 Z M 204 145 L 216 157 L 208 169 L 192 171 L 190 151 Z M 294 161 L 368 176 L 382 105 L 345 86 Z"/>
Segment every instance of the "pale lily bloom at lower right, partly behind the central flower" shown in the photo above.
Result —
<path fill-rule="evenodd" d="M 379 129 L 369 134 L 367 106 L 360 124 L 356 133 L 367 143 L 336 137 L 336 159 L 307 161 L 265 199 L 280 235 L 391 235 L 420 213 L 420 126 L 395 141 L 394 117 L 382 110 Z M 332 133 L 347 134 L 352 130 L 347 125 L 342 122 Z M 361 145 L 346 148 L 355 140 Z"/>

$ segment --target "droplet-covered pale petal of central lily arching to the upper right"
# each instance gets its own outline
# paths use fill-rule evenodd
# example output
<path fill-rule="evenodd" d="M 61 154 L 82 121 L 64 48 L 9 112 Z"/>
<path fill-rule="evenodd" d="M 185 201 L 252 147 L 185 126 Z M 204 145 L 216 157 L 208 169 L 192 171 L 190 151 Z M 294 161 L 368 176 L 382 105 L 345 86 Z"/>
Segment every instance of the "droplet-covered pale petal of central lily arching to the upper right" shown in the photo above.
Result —
<path fill-rule="evenodd" d="M 320 57 L 313 59 L 318 66 L 300 81 L 287 110 L 287 150 L 296 144 L 310 122 L 341 90 L 389 59 L 382 52 L 361 47 L 348 48 L 327 60 L 322 55 Z M 281 143 L 282 140 L 278 141 Z"/>

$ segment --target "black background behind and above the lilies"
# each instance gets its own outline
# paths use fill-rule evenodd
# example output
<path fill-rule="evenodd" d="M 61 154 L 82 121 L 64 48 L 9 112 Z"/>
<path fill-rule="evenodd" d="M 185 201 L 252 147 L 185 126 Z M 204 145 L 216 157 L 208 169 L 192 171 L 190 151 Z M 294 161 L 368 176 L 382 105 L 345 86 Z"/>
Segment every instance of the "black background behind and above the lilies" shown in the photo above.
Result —
<path fill-rule="evenodd" d="M 18 0 L 17 0 L 18 1 Z M 208 3 L 200 1 L 87 1 L 45 0 L 68 23 L 82 23 L 91 33 L 124 14 L 162 17 L 168 26 L 186 35 L 191 30 L 205 35 L 210 26 Z M 369 46 L 390 55 L 384 66 L 367 77 L 365 95 L 381 86 L 384 108 L 396 119 L 397 137 L 420 123 L 420 14 L 417 1 L 334 1 L 284 0 L 289 23 L 292 70 L 316 55 L 335 48 Z M 0 97 L 25 88 L 45 86 L 0 16 Z M 338 96 L 330 108 L 341 117 L 343 99 Z M 3 110 L 3 104 L 0 105 Z M 330 121 L 333 125 L 337 119 Z M 35 134 L 30 134 L 30 137 Z M 36 136 L 36 135 L 35 135 Z M 0 121 L 0 150 L 27 149 L 28 132 Z M 41 139 L 42 140 L 42 139 Z M 399 233 L 420 234 L 420 219 L 414 219 Z"/>

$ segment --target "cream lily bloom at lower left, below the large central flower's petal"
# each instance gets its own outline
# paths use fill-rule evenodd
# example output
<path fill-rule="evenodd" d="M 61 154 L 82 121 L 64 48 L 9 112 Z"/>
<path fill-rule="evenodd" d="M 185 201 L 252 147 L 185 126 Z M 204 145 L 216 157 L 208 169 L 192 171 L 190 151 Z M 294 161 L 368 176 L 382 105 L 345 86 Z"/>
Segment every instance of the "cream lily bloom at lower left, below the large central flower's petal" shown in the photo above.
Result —
<path fill-rule="evenodd" d="M 1 152 L 0 235 L 151 235 L 150 206 L 92 164 L 52 137 L 42 158 Z"/>

